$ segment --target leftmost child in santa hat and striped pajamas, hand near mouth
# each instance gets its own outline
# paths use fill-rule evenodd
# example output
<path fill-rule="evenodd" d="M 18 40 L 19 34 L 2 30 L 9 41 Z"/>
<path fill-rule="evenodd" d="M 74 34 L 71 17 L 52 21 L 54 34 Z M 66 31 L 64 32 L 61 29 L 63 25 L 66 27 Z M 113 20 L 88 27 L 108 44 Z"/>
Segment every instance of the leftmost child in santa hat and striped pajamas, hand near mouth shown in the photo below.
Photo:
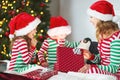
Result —
<path fill-rule="evenodd" d="M 11 19 L 9 37 L 12 39 L 12 57 L 9 70 L 24 74 L 41 68 L 36 64 L 29 64 L 35 52 L 37 41 L 34 35 L 40 22 L 39 18 L 35 18 L 26 12 L 22 12 Z"/>

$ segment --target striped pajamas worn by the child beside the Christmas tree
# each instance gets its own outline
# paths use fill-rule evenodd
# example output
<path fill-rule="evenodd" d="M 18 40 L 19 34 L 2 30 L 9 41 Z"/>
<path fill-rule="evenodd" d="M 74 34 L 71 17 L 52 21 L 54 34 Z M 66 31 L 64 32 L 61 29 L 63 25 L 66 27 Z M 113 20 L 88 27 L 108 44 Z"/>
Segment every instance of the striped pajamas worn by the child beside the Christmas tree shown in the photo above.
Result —
<path fill-rule="evenodd" d="M 9 70 L 22 73 L 28 69 L 37 66 L 29 64 L 34 50 L 28 52 L 27 42 L 24 39 L 16 39 L 12 47 L 12 57 L 10 60 Z"/>

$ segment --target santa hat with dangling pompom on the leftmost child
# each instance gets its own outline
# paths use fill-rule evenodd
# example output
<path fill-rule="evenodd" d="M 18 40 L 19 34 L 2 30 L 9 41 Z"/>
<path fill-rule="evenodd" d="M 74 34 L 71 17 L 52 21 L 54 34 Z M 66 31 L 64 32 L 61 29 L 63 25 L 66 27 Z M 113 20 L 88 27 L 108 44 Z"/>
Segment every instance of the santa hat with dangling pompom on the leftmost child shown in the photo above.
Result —
<path fill-rule="evenodd" d="M 35 29 L 39 23 L 39 18 L 35 18 L 26 12 L 22 12 L 11 19 L 9 23 L 10 35 L 9 38 L 15 36 L 24 36 Z"/>

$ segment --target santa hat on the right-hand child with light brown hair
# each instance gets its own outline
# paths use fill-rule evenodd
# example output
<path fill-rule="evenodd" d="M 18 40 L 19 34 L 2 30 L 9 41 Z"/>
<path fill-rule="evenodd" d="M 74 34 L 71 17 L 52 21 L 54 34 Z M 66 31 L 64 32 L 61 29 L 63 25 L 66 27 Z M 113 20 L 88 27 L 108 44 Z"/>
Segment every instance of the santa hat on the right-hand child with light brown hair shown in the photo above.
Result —
<path fill-rule="evenodd" d="M 106 0 L 99 0 L 92 4 L 87 13 L 103 21 L 110 21 L 115 16 L 113 5 Z"/>

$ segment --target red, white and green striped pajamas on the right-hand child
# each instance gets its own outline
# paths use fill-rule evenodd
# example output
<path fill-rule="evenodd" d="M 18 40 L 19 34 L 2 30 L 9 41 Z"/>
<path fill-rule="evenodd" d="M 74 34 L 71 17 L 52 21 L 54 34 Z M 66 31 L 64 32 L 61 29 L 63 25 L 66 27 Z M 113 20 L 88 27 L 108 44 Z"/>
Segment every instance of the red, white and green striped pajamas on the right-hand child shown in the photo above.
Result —
<path fill-rule="evenodd" d="M 100 65 L 91 65 L 87 73 L 112 74 L 120 72 L 120 31 L 98 44 L 99 55 L 92 62 Z M 98 57 L 99 56 L 99 57 Z"/>

